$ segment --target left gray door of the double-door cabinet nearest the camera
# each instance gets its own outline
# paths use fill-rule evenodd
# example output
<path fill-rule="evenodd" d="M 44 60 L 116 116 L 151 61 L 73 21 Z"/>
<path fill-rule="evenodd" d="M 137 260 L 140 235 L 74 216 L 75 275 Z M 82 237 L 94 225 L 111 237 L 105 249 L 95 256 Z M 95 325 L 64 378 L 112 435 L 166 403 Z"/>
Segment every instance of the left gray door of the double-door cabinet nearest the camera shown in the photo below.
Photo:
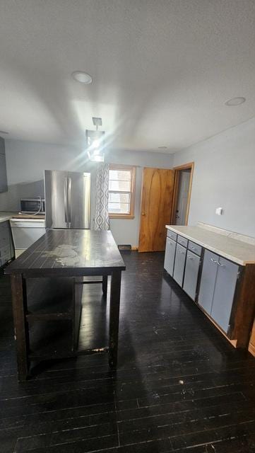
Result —
<path fill-rule="evenodd" d="M 198 304 L 210 314 L 213 304 L 213 293 L 215 288 L 216 276 L 218 272 L 218 255 L 205 251 L 203 256 L 203 269 L 201 275 L 201 283 L 198 294 Z"/>

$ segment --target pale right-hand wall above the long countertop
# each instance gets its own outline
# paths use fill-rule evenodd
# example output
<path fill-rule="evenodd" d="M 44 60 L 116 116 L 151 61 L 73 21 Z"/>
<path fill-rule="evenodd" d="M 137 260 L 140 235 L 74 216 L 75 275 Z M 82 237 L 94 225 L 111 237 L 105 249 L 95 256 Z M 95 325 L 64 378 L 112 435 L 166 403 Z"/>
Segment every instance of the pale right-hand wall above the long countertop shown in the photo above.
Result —
<path fill-rule="evenodd" d="M 173 166 L 191 161 L 189 224 L 255 236 L 255 118 L 175 153 Z M 223 207 L 222 216 L 216 207 Z"/>

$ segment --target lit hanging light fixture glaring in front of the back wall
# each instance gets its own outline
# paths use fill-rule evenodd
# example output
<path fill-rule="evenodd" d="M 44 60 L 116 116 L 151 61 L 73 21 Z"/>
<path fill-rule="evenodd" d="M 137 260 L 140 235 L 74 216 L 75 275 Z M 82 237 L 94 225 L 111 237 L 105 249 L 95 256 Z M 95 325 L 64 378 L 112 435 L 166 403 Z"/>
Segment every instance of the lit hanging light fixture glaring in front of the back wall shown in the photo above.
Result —
<path fill-rule="evenodd" d="M 105 154 L 102 153 L 102 149 L 104 147 L 105 132 L 98 130 L 98 127 L 102 126 L 102 118 L 93 117 L 92 120 L 95 130 L 86 130 L 88 157 L 90 161 L 104 162 Z"/>

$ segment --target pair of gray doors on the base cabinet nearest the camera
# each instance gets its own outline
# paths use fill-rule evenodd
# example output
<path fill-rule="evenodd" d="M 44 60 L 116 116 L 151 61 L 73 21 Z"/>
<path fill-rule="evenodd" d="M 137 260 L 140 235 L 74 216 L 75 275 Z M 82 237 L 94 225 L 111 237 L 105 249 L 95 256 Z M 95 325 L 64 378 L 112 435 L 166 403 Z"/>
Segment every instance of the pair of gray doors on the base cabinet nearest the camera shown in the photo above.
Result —
<path fill-rule="evenodd" d="M 198 304 L 225 333 L 230 325 L 239 265 L 205 251 Z"/>

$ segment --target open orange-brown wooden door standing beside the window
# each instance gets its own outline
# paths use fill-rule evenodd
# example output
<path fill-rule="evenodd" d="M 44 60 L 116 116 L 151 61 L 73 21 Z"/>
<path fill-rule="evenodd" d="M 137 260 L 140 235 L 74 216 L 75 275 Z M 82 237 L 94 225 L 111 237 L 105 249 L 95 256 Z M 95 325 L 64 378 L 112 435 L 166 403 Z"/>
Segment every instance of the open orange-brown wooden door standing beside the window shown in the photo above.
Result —
<path fill-rule="evenodd" d="M 143 168 L 139 252 L 165 250 L 165 225 L 170 224 L 174 171 Z"/>

